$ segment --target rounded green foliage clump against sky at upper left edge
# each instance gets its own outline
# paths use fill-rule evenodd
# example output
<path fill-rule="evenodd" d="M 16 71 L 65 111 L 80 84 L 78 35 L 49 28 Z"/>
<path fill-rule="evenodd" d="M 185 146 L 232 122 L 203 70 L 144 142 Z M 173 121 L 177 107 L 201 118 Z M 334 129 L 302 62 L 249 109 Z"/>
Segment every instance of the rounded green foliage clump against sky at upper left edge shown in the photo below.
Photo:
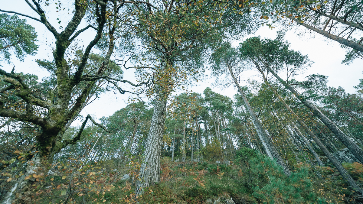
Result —
<path fill-rule="evenodd" d="M 37 33 L 33 26 L 17 15 L 0 14 L 0 60 L 10 63 L 11 54 L 24 61 L 24 57 L 38 51 Z M 1 65 L 0 65 L 1 66 Z"/>

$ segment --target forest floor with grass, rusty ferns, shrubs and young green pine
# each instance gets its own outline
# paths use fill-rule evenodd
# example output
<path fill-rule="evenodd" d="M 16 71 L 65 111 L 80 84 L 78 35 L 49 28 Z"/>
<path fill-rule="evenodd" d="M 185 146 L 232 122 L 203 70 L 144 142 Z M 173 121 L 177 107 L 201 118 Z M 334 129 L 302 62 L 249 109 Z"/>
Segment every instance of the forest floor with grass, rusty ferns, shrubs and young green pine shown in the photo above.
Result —
<path fill-rule="evenodd" d="M 361 185 L 363 165 L 345 163 L 344 168 Z M 135 197 L 135 176 L 139 162 L 113 170 L 110 164 L 86 165 L 74 171 L 72 165 L 59 164 L 58 174 L 48 176 L 37 192 L 36 203 L 361 203 L 362 198 L 348 187 L 338 171 L 329 166 L 315 167 L 296 163 L 291 176 L 283 174 L 276 163 L 263 155 L 252 159 L 235 159 L 228 164 L 215 160 L 203 162 L 161 163 L 161 182 L 144 189 Z M 74 166 L 75 167 L 75 166 Z M 319 171 L 322 179 L 315 171 Z M 124 180 L 125 174 L 130 179 Z M 46 186 L 46 187 L 44 187 Z"/>

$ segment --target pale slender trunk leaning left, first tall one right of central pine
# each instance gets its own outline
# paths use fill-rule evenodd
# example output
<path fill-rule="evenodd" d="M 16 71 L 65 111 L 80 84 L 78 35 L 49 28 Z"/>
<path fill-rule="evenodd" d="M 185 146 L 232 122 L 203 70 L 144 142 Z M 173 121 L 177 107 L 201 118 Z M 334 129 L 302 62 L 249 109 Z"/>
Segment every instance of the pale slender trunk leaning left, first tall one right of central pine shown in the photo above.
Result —
<path fill-rule="evenodd" d="M 289 170 L 289 168 L 286 166 L 286 163 L 284 162 L 284 160 L 281 158 L 280 154 L 278 154 L 277 149 L 274 147 L 272 141 L 270 140 L 270 138 L 268 137 L 265 129 L 263 128 L 261 122 L 258 120 L 256 113 L 254 113 L 251 105 L 249 104 L 244 91 L 241 89 L 240 85 L 238 84 L 238 81 L 236 79 L 236 77 L 234 76 L 233 72 L 231 69 L 229 69 L 231 76 L 233 78 L 234 83 L 237 86 L 238 91 L 240 91 L 241 96 L 243 98 L 243 101 L 245 102 L 245 105 L 252 117 L 252 123 L 253 125 L 256 127 L 256 130 L 258 132 L 258 136 L 260 136 L 261 142 L 262 144 L 264 144 L 264 146 L 266 147 L 266 151 L 269 151 L 268 154 L 270 156 L 271 159 L 275 159 L 276 163 L 278 165 L 280 165 L 283 169 L 284 169 L 284 173 L 287 176 L 291 175 L 291 171 Z"/>

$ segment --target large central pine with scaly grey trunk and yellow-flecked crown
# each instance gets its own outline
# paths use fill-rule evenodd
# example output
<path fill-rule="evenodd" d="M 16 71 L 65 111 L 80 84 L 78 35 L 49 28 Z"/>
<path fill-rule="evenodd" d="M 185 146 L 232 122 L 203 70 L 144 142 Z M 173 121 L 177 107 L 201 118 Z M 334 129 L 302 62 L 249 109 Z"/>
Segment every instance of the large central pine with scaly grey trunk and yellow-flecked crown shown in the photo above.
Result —
<path fill-rule="evenodd" d="M 148 96 L 154 97 L 154 115 L 136 194 L 160 180 L 161 142 L 166 104 L 171 92 L 188 79 L 187 75 L 190 74 L 193 79 L 199 77 L 205 51 L 221 41 L 227 31 L 236 33 L 256 28 L 248 24 L 253 21 L 252 18 L 241 17 L 242 12 L 234 12 L 227 5 L 214 0 L 194 3 L 170 0 L 167 4 L 156 1 L 132 7 L 135 40 L 138 42 L 130 42 L 132 45 L 140 44 L 136 46 L 142 52 L 140 61 L 146 61 L 140 66 L 144 71 L 140 71 L 140 78 L 150 77 L 152 83 Z M 247 7 L 243 8 L 245 16 L 252 16 Z"/>

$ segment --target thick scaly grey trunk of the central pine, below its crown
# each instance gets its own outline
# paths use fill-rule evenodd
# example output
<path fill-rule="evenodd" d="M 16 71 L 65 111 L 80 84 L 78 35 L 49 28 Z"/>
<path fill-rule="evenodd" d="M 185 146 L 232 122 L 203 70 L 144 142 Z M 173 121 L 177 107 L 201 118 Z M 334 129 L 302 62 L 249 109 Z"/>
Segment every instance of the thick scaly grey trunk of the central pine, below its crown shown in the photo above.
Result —
<path fill-rule="evenodd" d="M 166 103 L 166 99 L 159 95 L 156 96 L 154 113 L 152 114 L 150 131 L 146 141 L 146 149 L 140 167 L 140 180 L 136 184 L 136 195 L 141 194 L 143 188 L 160 182 L 160 156 L 164 134 Z"/>

